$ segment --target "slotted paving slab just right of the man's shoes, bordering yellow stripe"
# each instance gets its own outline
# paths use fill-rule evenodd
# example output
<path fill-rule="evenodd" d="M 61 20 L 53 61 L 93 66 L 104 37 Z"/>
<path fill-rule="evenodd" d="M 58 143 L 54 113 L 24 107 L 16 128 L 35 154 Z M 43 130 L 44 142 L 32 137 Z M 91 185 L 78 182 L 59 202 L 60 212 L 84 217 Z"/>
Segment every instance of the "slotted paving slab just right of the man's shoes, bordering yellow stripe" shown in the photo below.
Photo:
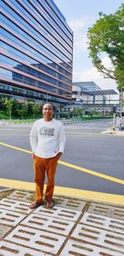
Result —
<path fill-rule="evenodd" d="M 54 196 L 54 199 L 57 200 L 57 206 L 61 208 L 68 208 L 72 210 L 83 210 L 86 201 L 79 200 L 78 198 L 69 198 L 63 196 Z"/>

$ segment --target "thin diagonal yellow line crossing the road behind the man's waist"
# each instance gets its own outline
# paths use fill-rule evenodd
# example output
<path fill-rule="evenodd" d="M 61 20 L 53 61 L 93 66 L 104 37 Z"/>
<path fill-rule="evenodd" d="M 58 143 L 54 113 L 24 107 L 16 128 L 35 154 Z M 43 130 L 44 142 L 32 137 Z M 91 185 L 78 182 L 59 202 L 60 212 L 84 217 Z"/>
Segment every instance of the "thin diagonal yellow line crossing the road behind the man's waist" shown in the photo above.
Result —
<path fill-rule="evenodd" d="M 22 148 L 20 148 L 20 147 L 14 147 L 14 146 L 11 146 L 11 145 L 6 144 L 6 143 L 3 143 L 3 142 L 0 142 L 0 145 L 5 146 L 5 147 L 11 147 L 11 148 L 16 149 L 16 150 L 19 150 L 19 151 L 21 151 L 21 152 L 26 152 L 26 153 L 29 153 L 29 154 L 32 153 L 32 152 L 29 151 L 29 150 L 22 149 Z M 61 165 L 65 166 L 65 167 L 70 167 L 70 168 L 76 169 L 76 170 L 78 170 L 78 171 L 83 171 L 83 172 L 86 172 L 86 173 L 88 173 L 88 174 L 90 174 L 90 175 L 98 176 L 98 177 L 103 178 L 103 179 L 106 179 L 106 180 L 108 180 L 108 181 L 113 181 L 113 182 L 117 182 L 117 183 L 119 183 L 119 184 L 124 185 L 124 181 L 121 180 L 121 179 L 117 179 L 117 178 L 112 177 L 112 176 L 107 176 L 107 175 L 102 174 L 102 173 L 97 172 L 97 171 L 91 171 L 91 170 L 85 169 L 85 168 L 83 168 L 83 167 L 78 167 L 78 166 L 75 166 L 74 164 L 71 164 L 71 163 L 68 163 L 68 162 L 59 161 L 59 163 L 60 163 Z"/>

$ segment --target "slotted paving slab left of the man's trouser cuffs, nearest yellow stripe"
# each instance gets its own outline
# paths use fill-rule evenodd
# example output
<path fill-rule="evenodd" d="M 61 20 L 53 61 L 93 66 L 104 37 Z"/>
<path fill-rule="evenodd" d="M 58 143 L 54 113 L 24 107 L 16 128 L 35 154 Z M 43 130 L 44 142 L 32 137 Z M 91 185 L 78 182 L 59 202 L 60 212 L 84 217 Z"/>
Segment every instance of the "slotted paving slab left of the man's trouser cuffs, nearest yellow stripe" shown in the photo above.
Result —
<path fill-rule="evenodd" d="M 16 200 L 24 200 L 24 201 L 30 201 L 30 197 L 33 196 L 33 192 L 27 192 L 27 191 L 13 191 L 12 194 L 7 196 L 7 198 L 12 198 Z"/>

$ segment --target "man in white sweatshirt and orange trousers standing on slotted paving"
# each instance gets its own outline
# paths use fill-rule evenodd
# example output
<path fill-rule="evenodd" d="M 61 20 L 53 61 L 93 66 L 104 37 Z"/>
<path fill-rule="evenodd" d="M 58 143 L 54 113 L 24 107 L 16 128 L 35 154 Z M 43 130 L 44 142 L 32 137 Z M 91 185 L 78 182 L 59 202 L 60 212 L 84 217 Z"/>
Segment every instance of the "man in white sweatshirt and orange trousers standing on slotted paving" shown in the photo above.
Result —
<path fill-rule="evenodd" d="M 31 204 L 31 209 L 36 209 L 42 204 L 45 172 L 47 175 L 46 206 L 48 208 L 54 206 L 52 196 L 55 187 L 55 170 L 64 152 L 64 128 L 60 121 L 53 118 L 52 104 L 45 104 L 42 114 L 43 118 L 34 123 L 30 134 L 36 182 L 36 200 Z"/>

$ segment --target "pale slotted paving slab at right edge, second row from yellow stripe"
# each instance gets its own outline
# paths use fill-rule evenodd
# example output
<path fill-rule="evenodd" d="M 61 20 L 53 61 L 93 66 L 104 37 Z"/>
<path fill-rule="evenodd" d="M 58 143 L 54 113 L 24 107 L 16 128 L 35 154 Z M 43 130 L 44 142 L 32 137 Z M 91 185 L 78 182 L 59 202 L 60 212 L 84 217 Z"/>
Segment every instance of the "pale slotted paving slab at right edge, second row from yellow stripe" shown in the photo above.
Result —
<path fill-rule="evenodd" d="M 97 228 L 109 229 L 124 235 L 124 220 L 116 220 L 114 218 L 105 217 L 103 215 L 93 215 L 85 212 L 79 223 L 92 225 Z"/>

